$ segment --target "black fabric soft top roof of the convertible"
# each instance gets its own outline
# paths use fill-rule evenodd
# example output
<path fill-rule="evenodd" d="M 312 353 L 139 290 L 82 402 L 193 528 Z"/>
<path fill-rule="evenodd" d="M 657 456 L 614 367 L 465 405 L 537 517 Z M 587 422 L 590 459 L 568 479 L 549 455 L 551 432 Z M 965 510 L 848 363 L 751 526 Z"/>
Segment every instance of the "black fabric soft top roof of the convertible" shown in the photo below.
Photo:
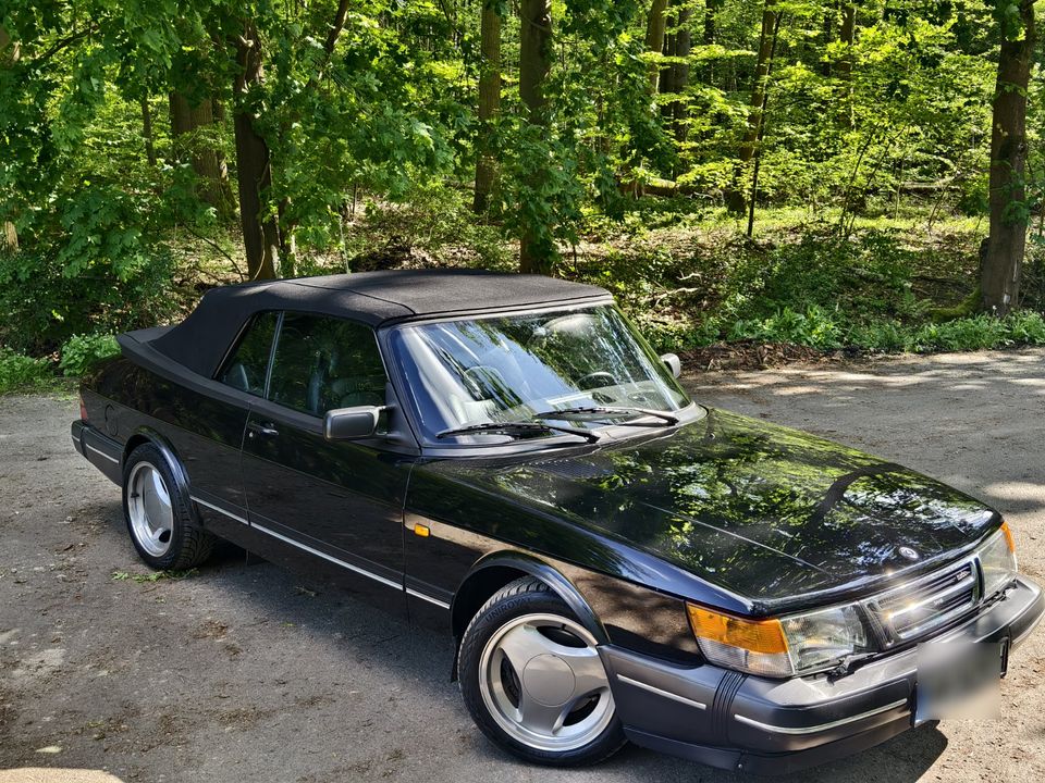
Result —
<path fill-rule="evenodd" d="M 213 288 L 182 323 L 121 335 L 124 353 L 159 351 L 211 377 L 247 320 L 262 310 L 352 318 L 370 326 L 607 299 L 597 286 L 541 275 L 411 270 L 266 281 Z M 155 355 L 153 355 L 155 359 Z"/>

